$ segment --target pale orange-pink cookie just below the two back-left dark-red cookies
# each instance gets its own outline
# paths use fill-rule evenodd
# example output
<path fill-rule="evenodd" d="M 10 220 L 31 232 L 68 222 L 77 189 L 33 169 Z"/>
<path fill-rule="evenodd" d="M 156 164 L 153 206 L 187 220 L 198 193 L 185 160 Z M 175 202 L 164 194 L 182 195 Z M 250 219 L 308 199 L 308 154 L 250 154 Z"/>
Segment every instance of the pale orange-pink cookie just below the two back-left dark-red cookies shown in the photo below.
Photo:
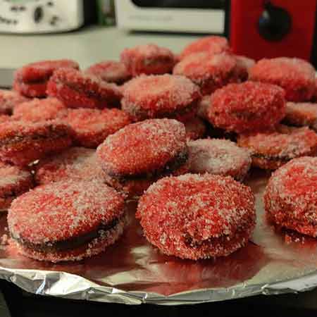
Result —
<path fill-rule="evenodd" d="M 56 98 L 32 99 L 18 104 L 13 109 L 14 120 L 38 122 L 61 118 L 66 106 Z"/>

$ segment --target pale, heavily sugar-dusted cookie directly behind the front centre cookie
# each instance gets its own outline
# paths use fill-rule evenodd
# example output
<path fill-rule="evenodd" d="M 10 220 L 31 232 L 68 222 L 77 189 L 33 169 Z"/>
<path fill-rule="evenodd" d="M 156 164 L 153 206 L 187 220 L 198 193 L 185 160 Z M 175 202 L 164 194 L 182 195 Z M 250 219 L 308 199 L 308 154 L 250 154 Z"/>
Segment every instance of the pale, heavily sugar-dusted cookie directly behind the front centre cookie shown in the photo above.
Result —
<path fill-rule="evenodd" d="M 247 149 L 227 139 L 197 139 L 187 142 L 191 173 L 210 173 L 243 180 L 251 166 Z"/>

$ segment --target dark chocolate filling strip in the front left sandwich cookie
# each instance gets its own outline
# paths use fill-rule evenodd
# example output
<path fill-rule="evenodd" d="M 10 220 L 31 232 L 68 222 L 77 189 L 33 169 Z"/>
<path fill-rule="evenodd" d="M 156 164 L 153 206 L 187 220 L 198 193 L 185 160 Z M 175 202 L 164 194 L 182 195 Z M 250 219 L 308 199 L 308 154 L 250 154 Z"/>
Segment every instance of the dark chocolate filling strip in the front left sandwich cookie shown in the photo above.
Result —
<path fill-rule="evenodd" d="M 111 220 L 110 223 L 101 223 L 98 228 L 95 230 L 86 233 L 85 235 L 80 235 L 78 237 L 71 237 L 66 240 L 56 241 L 56 242 L 46 242 L 46 243 L 32 243 L 23 238 L 14 237 L 11 234 L 11 237 L 16 240 L 19 244 L 22 244 L 23 247 L 27 247 L 28 249 L 32 249 L 38 252 L 58 252 L 58 251 L 68 251 L 71 249 L 76 249 L 78 247 L 82 247 L 85 244 L 88 244 L 92 240 L 101 237 L 104 232 L 109 231 L 118 225 L 120 222 L 120 218 L 115 218 Z"/>

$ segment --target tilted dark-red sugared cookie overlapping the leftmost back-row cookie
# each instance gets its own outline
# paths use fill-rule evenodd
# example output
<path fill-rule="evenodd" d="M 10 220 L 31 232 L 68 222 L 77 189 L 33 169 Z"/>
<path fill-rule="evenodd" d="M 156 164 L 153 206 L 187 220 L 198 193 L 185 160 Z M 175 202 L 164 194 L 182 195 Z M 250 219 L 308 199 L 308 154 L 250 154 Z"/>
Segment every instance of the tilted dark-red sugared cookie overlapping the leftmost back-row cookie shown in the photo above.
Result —
<path fill-rule="evenodd" d="M 59 68 L 47 84 L 47 94 L 70 108 L 106 108 L 120 104 L 117 85 L 71 68 Z"/>

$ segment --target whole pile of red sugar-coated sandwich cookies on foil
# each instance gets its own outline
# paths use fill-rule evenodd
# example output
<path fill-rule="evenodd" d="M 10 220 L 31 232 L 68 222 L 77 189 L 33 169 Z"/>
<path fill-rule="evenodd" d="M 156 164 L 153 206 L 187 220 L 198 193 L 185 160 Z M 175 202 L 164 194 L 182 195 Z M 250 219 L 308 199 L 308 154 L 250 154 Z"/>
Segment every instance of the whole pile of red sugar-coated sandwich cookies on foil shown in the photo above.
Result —
<path fill-rule="evenodd" d="M 204 37 L 180 54 L 155 44 L 80 70 L 19 68 L 0 91 L 0 209 L 10 243 L 77 261 L 123 234 L 126 201 L 147 240 L 182 259 L 228 256 L 256 224 L 250 168 L 276 170 L 269 221 L 317 237 L 315 69 L 257 63 Z"/>

